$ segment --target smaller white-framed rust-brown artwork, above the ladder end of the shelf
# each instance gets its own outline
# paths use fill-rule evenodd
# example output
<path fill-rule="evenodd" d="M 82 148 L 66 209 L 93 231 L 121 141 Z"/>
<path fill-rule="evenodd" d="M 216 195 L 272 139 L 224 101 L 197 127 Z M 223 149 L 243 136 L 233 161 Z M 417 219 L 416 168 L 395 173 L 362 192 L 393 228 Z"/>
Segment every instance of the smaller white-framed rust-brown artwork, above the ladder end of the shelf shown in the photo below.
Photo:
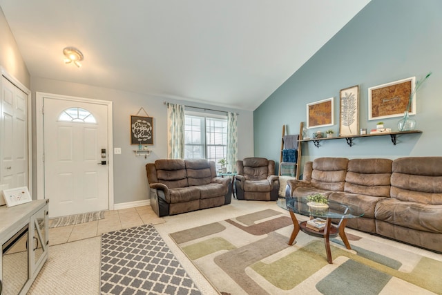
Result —
<path fill-rule="evenodd" d="M 334 97 L 307 104 L 307 128 L 334 124 Z"/>

